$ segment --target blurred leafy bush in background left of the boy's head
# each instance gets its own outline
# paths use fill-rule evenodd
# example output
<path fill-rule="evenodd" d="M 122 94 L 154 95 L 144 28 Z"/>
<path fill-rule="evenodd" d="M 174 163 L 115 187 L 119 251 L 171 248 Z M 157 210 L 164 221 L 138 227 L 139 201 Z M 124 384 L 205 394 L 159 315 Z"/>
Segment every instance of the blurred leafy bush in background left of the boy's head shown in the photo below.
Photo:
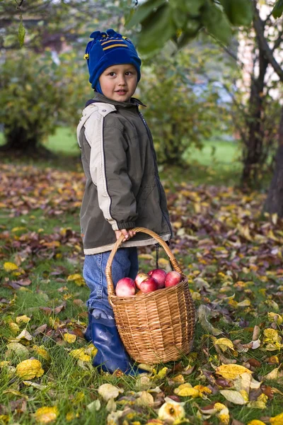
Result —
<path fill-rule="evenodd" d="M 59 58 L 57 65 L 50 52 L 36 55 L 21 50 L 1 64 L 0 120 L 7 148 L 34 149 L 59 123 L 78 122 L 90 94 L 86 69 L 82 74 L 74 54 Z"/>

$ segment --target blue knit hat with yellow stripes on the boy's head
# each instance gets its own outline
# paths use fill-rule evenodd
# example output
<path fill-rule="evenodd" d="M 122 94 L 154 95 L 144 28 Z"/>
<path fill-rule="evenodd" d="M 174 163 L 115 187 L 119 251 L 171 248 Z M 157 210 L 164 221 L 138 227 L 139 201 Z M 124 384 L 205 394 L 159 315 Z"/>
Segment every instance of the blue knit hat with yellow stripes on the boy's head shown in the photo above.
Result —
<path fill-rule="evenodd" d="M 88 63 L 89 82 L 93 89 L 101 93 L 99 77 L 112 65 L 132 64 L 137 69 L 137 81 L 141 78 L 141 60 L 137 50 L 129 38 L 122 37 L 114 30 L 107 30 L 106 33 L 94 31 L 90 35 L 93 38 L 86 46 L 84 56 Z"/>

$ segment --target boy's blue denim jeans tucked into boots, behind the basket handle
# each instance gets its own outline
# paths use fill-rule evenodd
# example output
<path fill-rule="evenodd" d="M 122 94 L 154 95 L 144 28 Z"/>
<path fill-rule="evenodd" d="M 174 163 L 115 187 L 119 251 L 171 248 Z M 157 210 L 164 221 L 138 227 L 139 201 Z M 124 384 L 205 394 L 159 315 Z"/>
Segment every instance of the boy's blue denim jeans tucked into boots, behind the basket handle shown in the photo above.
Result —
<path fill-rule="evenodd" d="M 107 280 L 105 276 L 105 268 L 109 256 L 110 251 L 86 255 L 83 264 L 83 278 L 91 290 L 91 295 L 86 302 L 88 311 L 101 310 L 108 317 L 114 317 L 112 307 L 108 302 Z M 114 287 L 116 287 L 117 281 L 122 278 L 128 277 L 135 279 L 138 270 L 137 248 L 134 246 L 118 249 L 112 261 L 112 280 Z"/>

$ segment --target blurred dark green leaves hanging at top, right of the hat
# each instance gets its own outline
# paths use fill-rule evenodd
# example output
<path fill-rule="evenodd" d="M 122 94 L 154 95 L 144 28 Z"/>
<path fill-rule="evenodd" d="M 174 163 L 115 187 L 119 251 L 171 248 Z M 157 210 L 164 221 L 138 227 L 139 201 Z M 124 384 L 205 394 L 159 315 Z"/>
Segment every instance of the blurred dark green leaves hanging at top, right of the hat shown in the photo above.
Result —
<path fill-rule="evenodd" d="M 231 40 L 231 26 L 249 25 L 253 17 L 250 0 L 147 0 L 132 13 L 127 28 L 141 24 L 140 52 L 160 50 L 169 39 L 179 47 L 205 28 L 217 40 Z"/>

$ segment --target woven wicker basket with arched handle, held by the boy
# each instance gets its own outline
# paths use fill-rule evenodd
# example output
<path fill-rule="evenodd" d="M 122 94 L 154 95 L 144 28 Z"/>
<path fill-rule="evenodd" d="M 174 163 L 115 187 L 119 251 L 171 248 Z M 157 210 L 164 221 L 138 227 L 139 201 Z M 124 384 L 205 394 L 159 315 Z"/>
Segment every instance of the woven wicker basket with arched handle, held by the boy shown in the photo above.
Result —
<path fill-rule="evenodd" d="M 144 232 L 163 246 L 175 271 L 182 273 L 166 242 L 144 227 Z M 138 363 L 164 363 L 178 360 L 192 349 L 195 333 L 195 306 L 192 302 L 187 277 L 178 285 L 152 293 L 117 297 L 112 281 L 111 265 L 123 236 L 113 246 L 106 266 L 108 298 L 115 314 L 117 329 L 129 355 Z"/>

